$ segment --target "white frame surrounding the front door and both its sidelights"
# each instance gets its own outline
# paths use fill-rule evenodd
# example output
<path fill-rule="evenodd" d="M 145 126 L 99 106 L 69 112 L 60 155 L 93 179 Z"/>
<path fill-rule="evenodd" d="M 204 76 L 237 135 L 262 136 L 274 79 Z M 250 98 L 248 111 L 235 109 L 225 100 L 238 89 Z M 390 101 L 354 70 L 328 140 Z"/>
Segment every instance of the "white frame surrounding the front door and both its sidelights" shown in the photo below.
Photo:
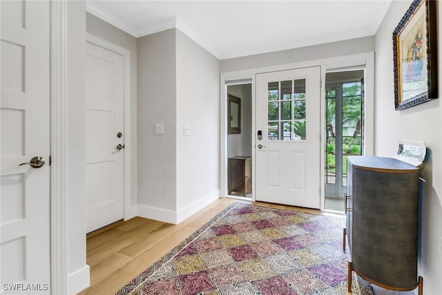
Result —
<path fill-rule="evenodd" d="M 321 102 L 320 102 L 320 210 L 325 210 L 325 73 L 332 71 L 349 70 L 361 66 L 365 67 L 365 144 L 364 154 L 374 153 L 374 52 L 358 53 L 354 55 L 343 55 L 325 59 L 314 59 L 300 61 L 291 64 L 277 66 L 266 66 L 250 68 L 247 70 L 236 70 L 220 73 L 220 196 L 228 196 L 227 191 L 227 83 L 234 82 L 241 84 L 244 81 L 251 81 L 252 101 L 252 201 L 255 201 L 256 191 L 256 74 L 269 73 L 280 70 L 291 70 L 295 68 L 321 67 Z"/>

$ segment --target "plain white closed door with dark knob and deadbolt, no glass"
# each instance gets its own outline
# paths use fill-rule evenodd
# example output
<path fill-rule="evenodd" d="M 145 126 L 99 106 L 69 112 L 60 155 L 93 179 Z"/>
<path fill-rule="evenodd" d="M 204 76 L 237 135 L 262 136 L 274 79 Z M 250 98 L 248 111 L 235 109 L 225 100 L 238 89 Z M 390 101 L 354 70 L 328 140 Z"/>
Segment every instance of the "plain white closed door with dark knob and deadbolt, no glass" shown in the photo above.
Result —
<path fill-rule="evenodd" d="M 124 218 L 124 57 L 86 43 L 87 232 Z"/>

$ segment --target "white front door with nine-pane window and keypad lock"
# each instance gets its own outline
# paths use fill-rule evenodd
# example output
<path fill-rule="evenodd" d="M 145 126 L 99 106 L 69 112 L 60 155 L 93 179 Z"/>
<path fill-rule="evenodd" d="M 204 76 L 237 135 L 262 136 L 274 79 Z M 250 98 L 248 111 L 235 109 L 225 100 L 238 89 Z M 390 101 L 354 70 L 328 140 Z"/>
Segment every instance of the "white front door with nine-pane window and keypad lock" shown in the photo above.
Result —
<path fill-rule="evenodd" d="M 256 75 L 256 130 L 256 200 L 318 209 L 320 67 Z"/>

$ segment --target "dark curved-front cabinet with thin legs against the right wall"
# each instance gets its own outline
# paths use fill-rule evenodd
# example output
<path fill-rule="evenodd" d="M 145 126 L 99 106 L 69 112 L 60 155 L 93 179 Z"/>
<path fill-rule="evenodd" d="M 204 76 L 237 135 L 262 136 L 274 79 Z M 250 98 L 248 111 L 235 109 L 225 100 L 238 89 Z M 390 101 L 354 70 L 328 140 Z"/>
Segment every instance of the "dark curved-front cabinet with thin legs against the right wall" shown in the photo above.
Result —
<path fill-rule="evenodd" d="M 352 271 L 385 289 L 419 287 L 417 275 L 419 168 L 394 158 L 347 158 L 346 211 Z"/>

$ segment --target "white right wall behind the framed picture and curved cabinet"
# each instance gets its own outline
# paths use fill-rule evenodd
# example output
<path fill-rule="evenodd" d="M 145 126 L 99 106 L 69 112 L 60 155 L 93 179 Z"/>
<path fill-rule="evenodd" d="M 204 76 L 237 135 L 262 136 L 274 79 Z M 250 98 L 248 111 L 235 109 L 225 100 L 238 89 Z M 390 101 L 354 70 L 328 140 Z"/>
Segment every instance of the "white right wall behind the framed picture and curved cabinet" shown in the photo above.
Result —
<path fill-rule="evenodd" d="M 423 169 L 426 182 L 421 185 L 421 233 L 419 236 L 419 275 L 423 276 L 424 294 L 442 290 L 442 127 L 441 99 L 404 111 L 394 111 L 392 32 L 412 1 L 392 1 L 381 27 L 376 32 L 375 62 L 375 155 L 391 156 L 397 140 L 420 140 L 430 155 Z M 438 18 L 442 14 L 439 10 Z M 440 22 L 439 22 L 440 23 Z M 439 24 L 439 32 L 441 32 Z M 440 38 L 441 35 L 438 36 Z M 439 46 L 442 57 L 442 46 Z M 439 68 L 441 59 L 439 58 Z M 439 96 L 442 75 L 439 71 Z"/>

